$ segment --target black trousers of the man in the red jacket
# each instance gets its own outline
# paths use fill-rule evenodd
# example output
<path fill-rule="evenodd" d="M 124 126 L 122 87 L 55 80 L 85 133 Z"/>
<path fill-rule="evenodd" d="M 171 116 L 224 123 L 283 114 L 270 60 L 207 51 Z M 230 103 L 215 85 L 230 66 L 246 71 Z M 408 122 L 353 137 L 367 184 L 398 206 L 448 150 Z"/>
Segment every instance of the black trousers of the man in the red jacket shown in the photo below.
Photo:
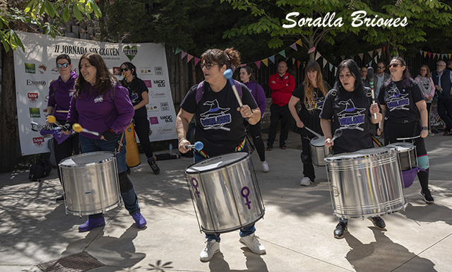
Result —
<path fill-rule="evenodd" d="M 280 134 L 280 146 L 285 145 L 285 141 L 289 135 L 289 119 L 290 110 L 286 104 L 284 106 L 276 105 L 272 103 L 270 105 L 270 127 L 268 128 L 268 141 L 267 146 L 273 146 L 275 142 L 276 131 L 278 131 L 278 124 L 281 120 L 281 134 Z"/>

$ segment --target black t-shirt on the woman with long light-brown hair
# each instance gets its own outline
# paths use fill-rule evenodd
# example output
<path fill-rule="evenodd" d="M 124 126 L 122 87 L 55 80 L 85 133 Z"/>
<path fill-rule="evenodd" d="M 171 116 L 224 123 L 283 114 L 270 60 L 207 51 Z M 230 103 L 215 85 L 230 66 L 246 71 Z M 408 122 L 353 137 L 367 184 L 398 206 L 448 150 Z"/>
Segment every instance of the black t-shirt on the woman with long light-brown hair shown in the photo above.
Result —
<path fill-rule="evenodd" d="M 330 85 L 323 81 L 325 84 L 325 88 L 330 90 Z M 321 126 L 320 126 L 320 118 L 319 114 L 323 108 L 323 102 L 325 101 L 325 97 L 323 93 L 318 88 L 314 88 L 314 92 L 312 95 L 314 96 L 314 105 L 304 105 L 304 84 L 300 84 L 293 92 L 292 95 L 299 98 L 299 102 L 301 104 L 301 109 L 298 112 L 299 119 L 302 120 L 304 126 L 307 126 L 309 129 L 316 131 L 318 134 L 323 135 Z M 301 129 L 302 135 L 314 136 L 307 129 Z"/>

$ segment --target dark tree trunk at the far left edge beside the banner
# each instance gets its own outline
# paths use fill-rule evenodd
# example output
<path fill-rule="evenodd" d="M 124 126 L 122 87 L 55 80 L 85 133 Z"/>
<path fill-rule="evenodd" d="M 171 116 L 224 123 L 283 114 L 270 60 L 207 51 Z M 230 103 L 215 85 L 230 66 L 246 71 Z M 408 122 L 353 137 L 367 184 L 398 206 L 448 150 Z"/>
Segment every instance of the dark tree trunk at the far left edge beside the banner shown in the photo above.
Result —
<path fill-rule="evenodd" d="M 18 49 L 20 50 L 20 49 Z M 13 50 L 1 47 L 0 173 L 11 172 L 20 158 Z"/>

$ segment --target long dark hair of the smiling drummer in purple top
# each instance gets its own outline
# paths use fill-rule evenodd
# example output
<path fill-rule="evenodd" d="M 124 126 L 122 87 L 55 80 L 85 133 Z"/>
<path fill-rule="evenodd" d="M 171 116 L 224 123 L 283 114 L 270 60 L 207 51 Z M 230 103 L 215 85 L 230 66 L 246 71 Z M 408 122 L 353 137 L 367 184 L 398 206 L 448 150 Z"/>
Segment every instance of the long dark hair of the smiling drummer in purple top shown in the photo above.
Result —
<path fill-rule="evenodd" d="M 114 85 L 118 82 L 117 79 L 108 70 L 105 61 L 100 57 L 100 54 L 90 52 L 83 54 L 80 61 L 78 61 L 78 73 L 80 74 L 76 80 L 76 96 L 78 97 L 84 93 L 87 89 L 87 84 L 89 84 L 81 74 L 83 59 L 88 59 L 89 63 L 97 69 L 96 83 L 93 86 L 93 92 L 90 92 L 90 95 L 105 95 L 109 90 L 112 90 Z"/>

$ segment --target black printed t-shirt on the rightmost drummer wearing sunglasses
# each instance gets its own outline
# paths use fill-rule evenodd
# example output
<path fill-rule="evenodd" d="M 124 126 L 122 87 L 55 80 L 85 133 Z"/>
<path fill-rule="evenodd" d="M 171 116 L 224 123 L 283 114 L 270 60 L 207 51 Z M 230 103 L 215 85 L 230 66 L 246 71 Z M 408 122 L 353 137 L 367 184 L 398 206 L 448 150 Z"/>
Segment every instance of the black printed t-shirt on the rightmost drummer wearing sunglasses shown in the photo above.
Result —
<path fill-rule="evenodd" d="M 381 88 L 379 102 L 386 106 L 385 120 L 393 122 L 414 122 L 420 119 L 416 103 L 424 100 L 424 95 L 415 81 L 403 88 L 402 81 L 391 82 Z"/>

